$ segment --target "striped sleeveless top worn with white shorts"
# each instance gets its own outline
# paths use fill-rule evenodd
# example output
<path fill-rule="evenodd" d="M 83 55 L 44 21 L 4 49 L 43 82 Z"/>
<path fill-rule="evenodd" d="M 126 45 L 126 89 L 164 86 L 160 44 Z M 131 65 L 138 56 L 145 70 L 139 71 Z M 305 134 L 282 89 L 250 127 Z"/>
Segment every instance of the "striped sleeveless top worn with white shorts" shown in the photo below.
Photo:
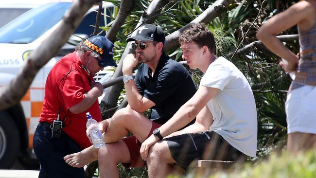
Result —
<path fill-rule="evenodd" d="M 298 27 L 298 36 L 300 59 L 289 91 L 305 85 L 316 86 L 316 21 L 307 31 Z"/>

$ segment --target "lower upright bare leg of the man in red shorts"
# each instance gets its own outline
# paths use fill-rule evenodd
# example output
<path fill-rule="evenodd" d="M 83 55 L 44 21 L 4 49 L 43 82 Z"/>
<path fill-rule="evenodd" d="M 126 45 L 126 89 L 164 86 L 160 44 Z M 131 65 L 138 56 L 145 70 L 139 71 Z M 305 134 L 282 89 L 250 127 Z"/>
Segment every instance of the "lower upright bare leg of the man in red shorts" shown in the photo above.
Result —
<path fill-rule="evenodd" d="M 98 160 L 100 178 L 119 178 L 117 164 L 131 162 L 128 148 L 122 140 L 101 147 Z"/>

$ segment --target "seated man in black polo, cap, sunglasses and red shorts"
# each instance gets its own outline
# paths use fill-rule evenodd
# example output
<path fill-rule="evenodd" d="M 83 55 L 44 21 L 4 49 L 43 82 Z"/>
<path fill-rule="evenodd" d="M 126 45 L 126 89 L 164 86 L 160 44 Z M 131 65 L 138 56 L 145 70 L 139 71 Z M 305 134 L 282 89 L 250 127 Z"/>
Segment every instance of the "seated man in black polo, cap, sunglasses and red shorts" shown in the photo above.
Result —
<path fill-rule="evenodd" d="M 64 159 L 74 167 L 99 160 L 101 177 L 119 177 L 117 163 L 126 167 L 144 166 L 140 145 L 154 129 L 164 124 L 195 93 L 196 88 L 188 71 L 163 52 L 165 36 L 161 28 L 145 24 L 126 41 L 135 41 L 136 54 L 123 60 L 123 81 L 128 106 L 118 110 L 112 118 L 99 123 L 105 131 L 105 146 L 93 146 Z M 135 80 L 133 68 L 141 62 Z M 151 109 L 149 119 L 141 115 Z M 193 121 L 194 122 L 194 121 Z M 190 124 L 193 124 L 190 123 Z M 131 132 L 133 136 L 122 139 Z"/>

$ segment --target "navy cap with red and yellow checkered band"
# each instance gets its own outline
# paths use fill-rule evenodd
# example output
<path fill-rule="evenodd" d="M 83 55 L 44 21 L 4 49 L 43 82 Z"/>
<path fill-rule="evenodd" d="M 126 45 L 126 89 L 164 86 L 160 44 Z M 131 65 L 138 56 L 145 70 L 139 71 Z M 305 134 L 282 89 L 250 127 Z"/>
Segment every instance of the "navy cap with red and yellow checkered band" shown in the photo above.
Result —
<path fill-rule="evenodd" d="M 115 66 L 117 67 L 114 59 L 114 45 L 104 36 L 91 36 L 84 42 L 88 48 L 100 54 L 102 61 L 107 66 Z"/>

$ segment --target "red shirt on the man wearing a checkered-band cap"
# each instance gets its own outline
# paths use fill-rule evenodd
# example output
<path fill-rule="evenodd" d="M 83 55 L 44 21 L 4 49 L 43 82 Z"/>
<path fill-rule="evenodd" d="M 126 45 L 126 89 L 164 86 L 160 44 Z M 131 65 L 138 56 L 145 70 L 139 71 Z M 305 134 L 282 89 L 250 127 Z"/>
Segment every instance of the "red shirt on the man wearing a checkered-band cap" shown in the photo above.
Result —
<path fill-rule="evenodd" d="M 91 145 L 86 135 L 86 113 L 101 121 L 99 102 L 86 111 L 73 114 L 69 111 L 80 103 L 90 88 L 93 78 L 82 68 L 82 63 L 76 52 L 70 53 L 61 58 L 50 71 L 45 85 L 45 96 L 43 110 L 39 122 L 52 124 L 57 118 L 59 108 L 61 108 L 60 119 L 64 121 L 63 131 L 75 141 L 82 149 Z"/>

